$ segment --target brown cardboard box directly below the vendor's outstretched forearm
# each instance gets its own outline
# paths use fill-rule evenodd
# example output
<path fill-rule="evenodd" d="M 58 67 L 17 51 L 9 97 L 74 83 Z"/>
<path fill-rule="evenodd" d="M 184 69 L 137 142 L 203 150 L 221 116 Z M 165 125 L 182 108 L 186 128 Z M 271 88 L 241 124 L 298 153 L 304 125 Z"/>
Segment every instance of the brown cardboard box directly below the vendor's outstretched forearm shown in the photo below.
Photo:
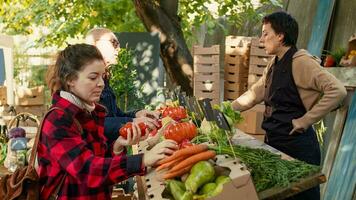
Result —
<path fill-rule="evenodd" d="M 261 128 L 265 106 L 258 104 L 253 108 L 241 113 L 244 121 L 237 125 L 237 128 L 249 134 L 265 134 Z"/>

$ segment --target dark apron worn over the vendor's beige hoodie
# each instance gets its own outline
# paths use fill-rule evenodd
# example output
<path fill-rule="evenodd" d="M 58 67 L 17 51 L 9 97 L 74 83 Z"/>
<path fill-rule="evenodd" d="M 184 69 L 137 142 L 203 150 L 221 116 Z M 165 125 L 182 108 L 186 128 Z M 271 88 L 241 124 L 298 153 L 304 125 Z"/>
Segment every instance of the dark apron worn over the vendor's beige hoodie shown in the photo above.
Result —
<path fill-rule="evenodd" d="M 291 47 L 267 72 L 262 128 L 267 144 L 299 160 L 320 164 L 319 143 L 312 127 L 289 135 L 292 120 L 306 113 L 292 74 L 293 55 L 297 51 Z"/>

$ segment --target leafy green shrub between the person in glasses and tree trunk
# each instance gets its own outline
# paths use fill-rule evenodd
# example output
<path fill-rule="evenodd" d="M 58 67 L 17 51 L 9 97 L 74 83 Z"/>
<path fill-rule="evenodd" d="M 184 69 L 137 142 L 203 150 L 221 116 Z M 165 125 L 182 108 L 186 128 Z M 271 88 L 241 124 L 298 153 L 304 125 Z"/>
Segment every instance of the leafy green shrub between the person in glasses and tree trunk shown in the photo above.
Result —
<path fill-rule="evenodd" d="M 142 88 L 138 88 L 137 70 L 133 64 L 133 51 L 121 48 L 118 63 L 110 67 L 110 86 L 117 97 L 118 107 L 124 112 L 142 109 Z"/>

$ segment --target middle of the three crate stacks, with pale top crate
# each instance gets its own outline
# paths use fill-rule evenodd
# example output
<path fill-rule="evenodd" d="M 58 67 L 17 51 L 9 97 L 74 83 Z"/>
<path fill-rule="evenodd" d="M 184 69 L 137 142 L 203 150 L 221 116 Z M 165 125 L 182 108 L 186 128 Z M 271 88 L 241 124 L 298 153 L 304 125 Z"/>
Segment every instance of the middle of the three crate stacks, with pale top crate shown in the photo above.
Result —
<path fill-rule="evenodd" d="M 224 99 L 235 100 L 247 90 L 250 37 L 225 39 Z"/>

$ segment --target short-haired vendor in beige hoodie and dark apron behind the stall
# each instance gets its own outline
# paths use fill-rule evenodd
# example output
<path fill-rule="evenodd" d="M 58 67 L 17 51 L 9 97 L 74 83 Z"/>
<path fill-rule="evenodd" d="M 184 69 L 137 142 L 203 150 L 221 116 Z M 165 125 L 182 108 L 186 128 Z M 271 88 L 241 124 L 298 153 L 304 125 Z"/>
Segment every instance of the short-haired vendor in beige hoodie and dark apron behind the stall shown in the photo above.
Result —
<path fill-rule="evenodd" d="M 315 57 L 297 49 L 298 23 L 292 16 L 275 12 L 262 22 L 260 42 L 266 53 L 275 57 L 262 77 L 232 106 L 245 111 L 264 102 L 265 142 L 293 158 L 320 165 L 319 143 L 312 125 L 341 103 L 346 89 Z M 318 200 L 319 186 L 290 199 Z"/>

